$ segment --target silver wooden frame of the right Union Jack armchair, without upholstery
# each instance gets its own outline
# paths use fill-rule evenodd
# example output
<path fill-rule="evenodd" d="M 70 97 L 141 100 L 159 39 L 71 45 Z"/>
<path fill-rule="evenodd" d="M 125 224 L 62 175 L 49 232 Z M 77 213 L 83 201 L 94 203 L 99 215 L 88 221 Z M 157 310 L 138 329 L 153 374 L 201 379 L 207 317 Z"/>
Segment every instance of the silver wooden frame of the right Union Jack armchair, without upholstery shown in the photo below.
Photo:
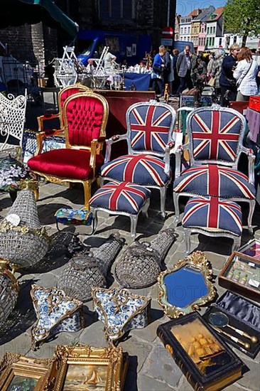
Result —
<path fill-rule="evenodd" d="M 237 115 L 237 117 L 239 117 L 239 120 L 241 122 L 242 131 L 241 131 L 240 136 L 239 136 L 237 157 L 234 160 L 234 162 L 227 162 L 227 163 L 225 162 L 225 164 L 223 164 L 223 161 L 220 161 L 220 160 L 216 160 L 216 161 L 212 161 L 212 160 L 196 161 L 194 159 L 194 157 L 193 157 L 193 140 L 190 137 L 192 118 L 197 113 L 204 112 L 204 111 L 212 111 L 214 109 L 217 109 L 220 112 L 229 112 L 229 113 L 232 113 L 234 115 Z M 201 166 L 203 164 L 212 164 L 212 163 L 214 163 L 214 164 L 219 164 L 220 166 L 233 168 L 235 170 L 237 170 L 237 165 L 238 165 L 238 162 L 239 162 L 240 155 L 242 153 L 244 153 L 244 154 L 247 154 L 247 157 L 248 157 L 248 173 L 249 173 L 248 178 L 249 178 L 249 183 L 254 186 L 254 160 L 255 160 L 255 156 L 254 156 L 253 151 L 251 149 L 248 149 L 248 148 L 246 148 L 243 145 L 243 138 L 244 138 L 244 132 L 245 132 L 245 129 L 246 129 L 246 125 L 247 125 L 247 122 L 246 122 L 246 119 L 245 119 L 244 115 L 239 113 L 239 112 L 237 112 L 237 110 L 234 110 L 234 109 L 230 109 L 230 108 L 227 108 L 227 107 L 220 107 L 219 105 L 217 105 L 217 106 L 214 105 L 213 107 L 200 107 L 198 109 L 193 109 L 188 114 L 188 117 L 187 117 L 186 129 L 187 129 L 187 133 L 188 133 L 188 143 L 186 143 L 183 146 L 181 146 L 175 152 L 175 161 L 176 161 L 176 164 L 175 164 L 175 179 L 177 179 L 180 176 L 180 174 L 181 174 L 181 172 L 180 172 L 180 170 L 181 170 L 181 156 L 183 155 L 184 151 L 189 151 L 190 167 L 195 167 L 195 166 Z M 180 220 L 179 198 L 181 196 L 197 197 L 196 194 L 186 193 L 186 192 L 176 193 L 173 190 L 173 203 L 174 203 L 174 208 L 175 208 L 175 223 L 176 224 L 178 224 L 178 222 Z M 246 202 L 246 203 L 249 204 L 249 215 L 248 215 L 248 218 L 247 218 L 247 222 L 248 222 L 249 233 L 252 234 L 253 233 L 253 229 L 252 229 L 252 226 L 251 226 L 251 220 L 252 220 L 252 217 L 253 217 L 253 214 L 254 214 L 254 207 L 256 205 L 256 200 L 255 199 L 251 200 L 251 199 L 248 199 L 248 198 L 236 198 L 236 197 L 232 197 L 232 196 L 229 198 L 229 200 L 237 201 L 237 202 Z"/>

